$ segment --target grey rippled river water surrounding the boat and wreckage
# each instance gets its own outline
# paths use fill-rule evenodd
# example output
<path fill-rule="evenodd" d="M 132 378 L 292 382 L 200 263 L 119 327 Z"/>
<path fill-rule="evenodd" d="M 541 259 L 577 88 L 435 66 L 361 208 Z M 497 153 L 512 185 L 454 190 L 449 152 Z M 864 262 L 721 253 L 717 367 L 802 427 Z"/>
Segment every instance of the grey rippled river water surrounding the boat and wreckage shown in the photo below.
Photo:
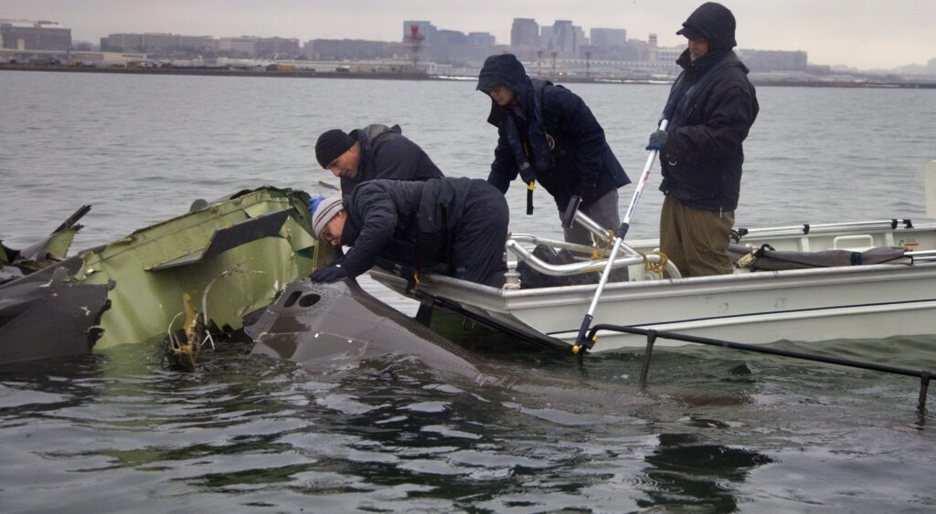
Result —
<path fill-rule="evenodd" d="M 496 130 L 474 82 L 0 72 L 0 239 L 82 204 L 73 248 L 259 184 L 324 190 L 315 137 L 399 123 L 449 176 L 483 178 Z M 667 88 L 574 84 L 632 178 Z M 758 89 L 738 226 L 921 219 L 936 92 Z M 655 236 L 651 178 L 631 236 Z M 625 204 L 633 187 L 622 190 Z M 508 192 L 514 232 L 561 237 Z M 623 207 L 622 207 L 623 208 Z M 404 311 L 413 305 L 365 286 Z M 584 309 L 584 306 L 583 306 Z M 781 343 L 914 369 L 932 337 Z M 126 345 L 0 370 L 0 506 L 12 511 L 931 511 L 936 431 L 918 381 L 729 350 L 530 353 L 481 344 L 505 383 L 411 362 L 327 376 L 249 357 L 164 370 Z M 930 410 L 933 407 L 929 401 Z"/>

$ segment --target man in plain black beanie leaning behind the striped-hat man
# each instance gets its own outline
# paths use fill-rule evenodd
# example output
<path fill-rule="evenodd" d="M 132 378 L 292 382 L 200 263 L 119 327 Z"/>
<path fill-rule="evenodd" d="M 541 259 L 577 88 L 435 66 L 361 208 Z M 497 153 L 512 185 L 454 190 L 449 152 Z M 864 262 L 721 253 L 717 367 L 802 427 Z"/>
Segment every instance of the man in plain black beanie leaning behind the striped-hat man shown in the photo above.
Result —
<path fill-rule="evenodd" d="M 332 129 L 315 142 L 315 159 L 335 177 L 342 191 L 374 178 L 428 180 L 442 171 L 416 143 L 402 136 L 400 125 L 373 124 L 345 134 Z"/>

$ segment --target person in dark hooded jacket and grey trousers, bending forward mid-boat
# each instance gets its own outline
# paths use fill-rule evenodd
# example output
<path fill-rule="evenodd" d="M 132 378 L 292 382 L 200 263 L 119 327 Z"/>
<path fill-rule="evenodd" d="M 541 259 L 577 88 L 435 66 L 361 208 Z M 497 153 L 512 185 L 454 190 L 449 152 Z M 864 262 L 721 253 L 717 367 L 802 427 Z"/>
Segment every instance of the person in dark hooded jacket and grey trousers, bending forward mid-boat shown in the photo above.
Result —
<path fill-rule="evenodd" d="M 531 79 L 509 53 L 484 62 L 477 89 L 490 96 L 488 122 L 498 129 L 488 181 L 501 193 L 518 174 L 528 186 L 538 182 L 552 195 L 560 215 L 578 195 L 585 214 L 617 231 L 618 188 L 630 178 L 585 102 L 563 86 Z M 591 235 L 578 225 L 565 229 L 564 236 L 568 242 L 592 244 Z"/>

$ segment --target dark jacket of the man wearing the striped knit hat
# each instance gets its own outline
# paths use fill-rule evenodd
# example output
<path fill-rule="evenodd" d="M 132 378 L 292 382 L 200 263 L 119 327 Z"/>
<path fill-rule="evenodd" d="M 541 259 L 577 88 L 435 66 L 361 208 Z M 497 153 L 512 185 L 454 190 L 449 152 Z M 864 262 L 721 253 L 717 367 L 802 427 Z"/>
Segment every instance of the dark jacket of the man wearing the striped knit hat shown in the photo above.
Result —
<path fill-rule="evenodd" d="M 439 178 L 371 180 L 359 185 L 344 196 L 347 219 L 342 244 L 352 248 L 342 266 L 357 277 L 378 257 L 424 268 L 446 263 L 475 180 L 483 182 Z"/>

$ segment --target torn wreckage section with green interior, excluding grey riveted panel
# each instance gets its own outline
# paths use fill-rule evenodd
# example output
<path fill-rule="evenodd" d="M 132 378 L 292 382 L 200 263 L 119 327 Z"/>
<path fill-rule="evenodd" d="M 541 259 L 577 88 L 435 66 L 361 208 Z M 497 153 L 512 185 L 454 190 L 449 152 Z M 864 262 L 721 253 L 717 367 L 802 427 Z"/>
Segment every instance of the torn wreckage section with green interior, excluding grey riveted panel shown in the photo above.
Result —
<path fill-rule="evenodd" d="M 240 330 L 326 258 L 308 200 L 272 187 L 197 200 L 182 216 L 67 258 L 88 206 L 27 249 L 0 242 L 0 364 L 169 334 L 190 365 L 192 344 Z"/>

